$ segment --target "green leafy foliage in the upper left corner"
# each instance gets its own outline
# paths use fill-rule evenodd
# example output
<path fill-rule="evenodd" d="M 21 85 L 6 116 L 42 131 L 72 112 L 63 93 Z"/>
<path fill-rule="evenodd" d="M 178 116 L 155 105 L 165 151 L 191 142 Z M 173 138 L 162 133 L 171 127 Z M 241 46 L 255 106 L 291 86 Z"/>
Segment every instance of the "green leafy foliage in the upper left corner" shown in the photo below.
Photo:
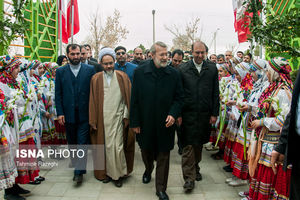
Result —
<path fill-rule="evenodd" d="M 3 48 L 3 52 L 0 52 L 0 54 L 6 53 L 7 48 L 17 38 L 17 35 L 24 35 L 28 23 L 24 20 L 23 10 L 27 3 L 27 0 L 13 0 L 14 18 L 5 17 L 0 20 L 0 43 Z"/>

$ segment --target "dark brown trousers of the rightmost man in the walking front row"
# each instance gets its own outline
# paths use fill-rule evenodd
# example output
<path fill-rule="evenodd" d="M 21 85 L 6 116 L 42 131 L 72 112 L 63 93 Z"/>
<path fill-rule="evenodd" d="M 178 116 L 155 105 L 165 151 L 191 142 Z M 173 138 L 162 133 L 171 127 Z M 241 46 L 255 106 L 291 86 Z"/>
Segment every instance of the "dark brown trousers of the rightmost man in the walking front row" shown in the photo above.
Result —
<path fill-rule="evenodd" d="M 203 145 L 187 145 L 182 152 L 182 174 L 185 181 L 195 181 L 200 173 L 199 163 L 202 160 Z"/>

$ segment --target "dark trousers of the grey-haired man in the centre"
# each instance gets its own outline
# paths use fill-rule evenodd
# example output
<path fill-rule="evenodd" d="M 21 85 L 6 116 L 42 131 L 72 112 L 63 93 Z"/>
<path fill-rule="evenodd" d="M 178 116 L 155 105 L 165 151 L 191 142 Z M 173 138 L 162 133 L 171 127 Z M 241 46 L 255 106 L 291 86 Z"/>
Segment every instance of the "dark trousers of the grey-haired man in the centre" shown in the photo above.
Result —
<path fill-rule="evenodd" d="M 154 152 L 141 150 L 142 159 L 145 165 L 145 173 L 150 175 L 154 168 L 154 160 L 156 159 L 155 187 L 157 192 L 165 192 L 167 190 L 169 177 L 170 152 L 159 152 L 155 158 Z"/>

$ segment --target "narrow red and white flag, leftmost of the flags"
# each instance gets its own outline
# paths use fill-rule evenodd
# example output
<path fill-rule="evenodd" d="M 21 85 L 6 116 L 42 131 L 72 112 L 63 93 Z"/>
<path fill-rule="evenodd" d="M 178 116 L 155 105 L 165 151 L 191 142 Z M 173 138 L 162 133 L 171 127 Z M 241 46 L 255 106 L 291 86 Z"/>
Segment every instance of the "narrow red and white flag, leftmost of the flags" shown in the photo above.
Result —
<path fill-rule="evenodd" d="M 60 18 L 61 15 L 61 18 Z M 61 19 L 61 21 L 60 21 Z M 60 23 L 62 29 L 60 30 Z M 67 44 L 68 43 L 68 32 L 67 32 L 67 26 L 66 26 L 66 13 L 65 13 L 65 2 L 64 0 L 59 1 L 58 5 L 58 37 L 60 39 L 60 31 L 62 33 L 61 40 L 63 43 Z"/>

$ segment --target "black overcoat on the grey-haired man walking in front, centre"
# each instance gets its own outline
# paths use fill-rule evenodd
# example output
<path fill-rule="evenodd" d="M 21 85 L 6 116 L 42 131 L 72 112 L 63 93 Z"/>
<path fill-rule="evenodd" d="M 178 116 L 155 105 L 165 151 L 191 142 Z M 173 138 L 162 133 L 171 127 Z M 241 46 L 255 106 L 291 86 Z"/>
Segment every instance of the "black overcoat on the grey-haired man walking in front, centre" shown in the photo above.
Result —
<path fill-rule="evenodd" d="M 131 93 L 130 127 L 140 127 L 136 139 L 141 149 L 168 152 L 174 147 L 175 125 L 166 119 L 180 115 L 183 90 L 178 71 L 167 66 L 156 73 L 153 60 L 135 69 Z"/>

